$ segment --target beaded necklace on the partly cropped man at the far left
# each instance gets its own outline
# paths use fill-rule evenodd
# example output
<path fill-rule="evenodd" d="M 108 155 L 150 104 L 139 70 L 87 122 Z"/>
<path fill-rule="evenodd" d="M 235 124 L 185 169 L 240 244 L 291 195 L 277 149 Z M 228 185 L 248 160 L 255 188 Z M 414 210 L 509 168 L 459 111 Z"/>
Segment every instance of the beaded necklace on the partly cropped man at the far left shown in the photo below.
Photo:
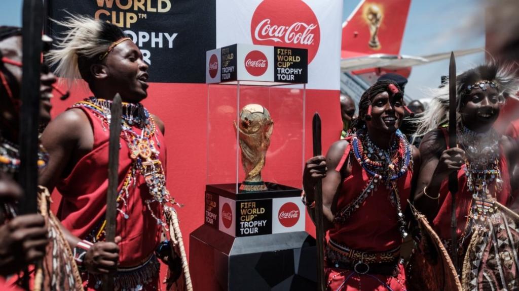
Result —
<path fill-rule="evenodd" d="M 41 169 L 49 162 L 49 154 L 39 144 L 38 150 L 38 169 Z M 20 152 L 18 146 L 0 135 L 0 171 L 4 173 L 16 173 L 20 167 Z"/>

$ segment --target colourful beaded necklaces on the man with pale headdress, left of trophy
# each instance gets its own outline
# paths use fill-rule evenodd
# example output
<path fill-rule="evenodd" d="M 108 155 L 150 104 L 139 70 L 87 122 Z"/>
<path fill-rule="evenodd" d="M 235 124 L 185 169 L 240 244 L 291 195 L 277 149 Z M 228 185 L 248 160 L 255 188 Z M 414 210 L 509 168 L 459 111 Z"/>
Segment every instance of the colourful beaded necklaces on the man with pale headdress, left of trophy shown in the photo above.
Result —
<path fill-rule="evenodd" d="M 72 107 L 86 107 L 91 109 L 101 120 L 103 130 L 106 130 L 106 127 L 110 125 L 111 105 L 112 101 L 110 100 L 90 97 L 76 103 Z M 159 160 L 160 152 L 155 147 L 155 142 L 157 146 L 160 146 L 156 135 L 157 129 L 155 122 L 153 118 L 150 118 L 148 110 L 141 104 L 123 103 L 122 112 L 121 138 L 127 142 L 132 164 L 123 180 L 122 188 L 119 191 L 117 198 L 119 206 L 117 211 L 119 211 L 125 219 L 129 218 L 128 214 L 126 214 L 122 208 L 128 207 L 127 199 L 130 195 L 129 189 L 131 186 L 136 186 L 138 175 L 141 174 L 152 196 L 151 199 L 146 199 L 144 202 L 153 218 L 157 221 L 157 224 L 166 227 L 166 223 L 158 217 L 161 217 L 162 214 L 156 215 L 151 208 L 151 204 L 157 202 L 164 208 L 179 204 L 170 196 L 166 188 L 165 171 Z M 142 129 L 141 134 L 136 133 L 132 126 Z M 120 202 L 122 202 L 122 205 Z M 96 233 L 92 237 L 94 241 L 99 241 L 104 235 L 105 224 L 106 221 L 95 231 Z"/>

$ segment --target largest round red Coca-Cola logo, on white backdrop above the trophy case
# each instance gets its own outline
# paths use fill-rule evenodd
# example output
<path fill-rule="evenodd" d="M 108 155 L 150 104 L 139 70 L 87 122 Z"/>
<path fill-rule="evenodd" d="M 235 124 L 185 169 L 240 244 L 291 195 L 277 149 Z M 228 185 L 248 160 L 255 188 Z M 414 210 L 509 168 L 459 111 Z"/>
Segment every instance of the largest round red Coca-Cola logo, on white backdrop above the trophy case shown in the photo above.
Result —
<path fill-rule="evenodd" d="M 255 45 L 308 50 L 308 64 L 319 50 L 321 31 L 312 9 L 302 0 L 265 0 L 254 11 L 251 21 Z"/>

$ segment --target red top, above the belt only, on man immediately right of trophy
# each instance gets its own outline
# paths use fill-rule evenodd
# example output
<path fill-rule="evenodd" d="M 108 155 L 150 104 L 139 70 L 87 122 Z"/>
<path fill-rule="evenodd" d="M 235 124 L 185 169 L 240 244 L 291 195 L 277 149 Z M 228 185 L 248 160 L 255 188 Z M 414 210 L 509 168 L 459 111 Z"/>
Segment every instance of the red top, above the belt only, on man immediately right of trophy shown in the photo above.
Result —
<path fill-rule="evenodd" d="M 350 158 L 351 143 L 346 147 L 341 162 Z M 354 159 L 351 161 L 351 174 L 343 180 L 337 199 L 337 212 L 357 198 L 362 192 L 370 176 L 362 166 Z M 343 167 L 343 165 L 340 165 Z M 337 167 L 340 170 L 340 167 Z M 407 207 L 407 199 L 411 193 L 411 180 L 413 177 L 411 167 L 397 180 L 398 191 L 402 211 Z M 397 208 L 391 205 L 389 190 L 383 182 L 379 182 L 376 191 L 373 191 L 344 224 L 334 224 L 329 232 L 330 239 L 348 246 L 354 250 L 365 252 L 384 252 L 395 249 L 402 243 L 397 219 Z"/>

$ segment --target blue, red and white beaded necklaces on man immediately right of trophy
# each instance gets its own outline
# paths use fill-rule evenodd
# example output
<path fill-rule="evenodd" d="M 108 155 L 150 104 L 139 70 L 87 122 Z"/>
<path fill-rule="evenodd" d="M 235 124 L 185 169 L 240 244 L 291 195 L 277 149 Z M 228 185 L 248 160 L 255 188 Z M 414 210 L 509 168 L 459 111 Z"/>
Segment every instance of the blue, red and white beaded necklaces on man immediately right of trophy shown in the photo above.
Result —
<path fill-rule="evenodd" d="M 389 150 L 383 150 L 377 147 L 363 130 L 352 134 L 351 146 L 354 157 L 371 178 L 360 195 L 335 217 L 336 222 L 346 222 L 347 218 L 362 206 L 368 194 L 373 195 L 373 192 L 378 189 L 379 183 L 384 182 L 389 190 L 388 198 L 391 205 L 397 209 L 400 234 L 403 238 L 407 237 L 397 180 L 407 173 L 409 167 L 412 167 L 412 149 L 400 130 L 397 130 L 396 135 L 398 142 L 395 140 Z"/>

